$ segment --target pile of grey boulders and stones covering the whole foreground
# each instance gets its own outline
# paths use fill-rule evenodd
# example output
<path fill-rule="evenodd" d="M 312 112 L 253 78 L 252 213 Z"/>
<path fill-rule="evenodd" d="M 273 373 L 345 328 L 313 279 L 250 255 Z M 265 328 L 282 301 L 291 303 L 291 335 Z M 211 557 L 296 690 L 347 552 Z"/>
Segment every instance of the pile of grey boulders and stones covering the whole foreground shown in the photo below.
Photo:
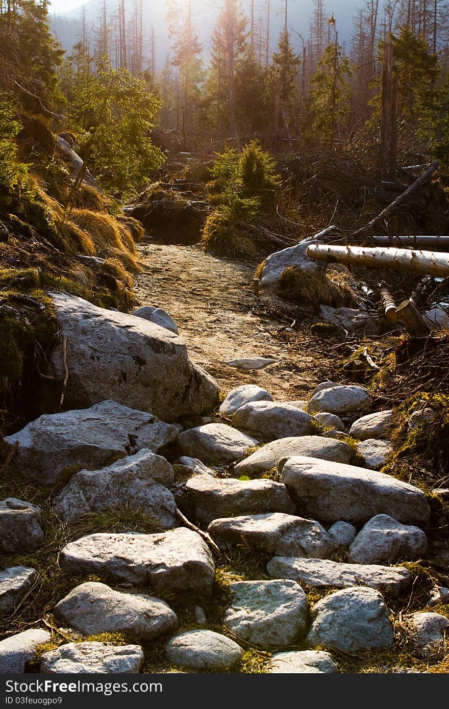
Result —
<path fill-rule="evenodd" d="M 70 297 L 55 296 L 55 302 L 66 323 L 66 308 L 73 306 Z M 87 357 L 89 347 L 94 352 L 96 337 L 105 337 L 98 356 L 106 356 L 107 333 L 97 332 L 98 310 L 86 306 L 89 317 L 82 328 L 85 334 L 94 330 L 76 346 L 73 341 L 68 350 L 72 358 Z M 145 323 L 142 313 L 136 316 L 126 318 Z M 140 332 L 147 325 L 150 329 Z M 109 327 L 110 318 L 106 331 Z M 162 415 L 170 402 L 182 388 L 190 413 L 210 411 L 216 385 L 189 365 L 177 336 L 166 335 L 154 320 L 133 323 L 129 330 L 126 347 L 140 352 L 131 359 L 134 378 L 139 379 L 139 367 L 143 370 L 139 381 L 145 396 L 140 401 L 145 406 L 129 406 L 137 389 L 133 396 L 118 396 L 121 401 L 92 401 L 103 384 L 94 396 L 94 384 L 82 384 L 89 370 L 82 374 L 81 366 L 73 367 L 79 381 L 74 398 L 89 399 L 90 406 L 42 415 L 6 438 L 17 444 L 15 462 L 24 479 L 50 488 L 65 479 L 67 466 L 75 467 L 53 500 L 64 523 L 127 505 L 143 510 L 157 526 L 148 534 L 93 532 L 60 549 L 67 574 L 94 574 L 102 581 L 74 585 L 56 603 L 53 613 L 60 624 L 86 639 L 42 654 L 40 671 L 139 672 L 141 643 L 160 637 L 167 640 L 167 666 L 179 671 L 238 667 L 248 643 L 272 653 L 265 670 L 273 673 L 336 672 L 334 648 L 350 653 L 392 648 L 394 627 L 385 598 L 410 592 L 411 573 L 395 564 L 425 556 L 422 527 L 430 516 L 423 491 L 380 471 L 391 450 L 392 411 L 371 413 L 372 397 L 363 386 L 326 381 L 301 404 L 275 402 L 251 384 L 228 393 L 218 412 L 221 423 L 211 419 L 184 430 L 167 423 L 186 411 L 184 403 Z M 72 325 L 65 328 L 67 336 L 72 332 Z M 148 340 L 145 357 L 148 352 L 154 357 L 150 364 L 135 361 L 143 359 L 143 350 L 133 350 L 136 337 Z M 76 354 L 76 347 L 82 352 Z M 170 360 L 170 367 L 179 364 L 179 372 L 187 368 L 190 379 L 172 376 L 155 396 L 145 378 L 153 376 L 148 372 L 154 362 L 164 360 Z M 125 391 L 126 381 L 131 386 L 132 379 L 131 369 L 123 369 L 121 384 L 120 375 L 114 379 L 119 361 L 110 372 L 116 393 Z M 149 411 L 153 402 L 157 414 Z M 346 436 L 358 441 L 357 459 Z M 227 476 L 220 476 L 223 466 Z M 179 470 L 182 480 L 177 479 Z M 2 552 L 27 554 L 44 544 L 37 506 L 15 498 L 0 501 Z M 222 632 L 216 632 L 202 605 L 207 606 L 214 591 L 217 549 L 232 554 L 241 545 L 268 559 L 268 578 L 231 584 Z M 331 558 L 337 550 L 345 562 Z M 1 613 L 14 613 L 33 594 L 35 574 L 27 566 L 0 573 Z M 311 604 L 308 590 L 331 587 L 337 590 Z M 199 627 L 179 632 L 174 609 L 160 596 L 186 594 L 197 604 Z M 404 623 L 423 657 L 445 651 L 449 621 L 444 615 L 412 613 Z M 126 633 L 134 644 L 89 640 L 104 631 Z M 49 639 L 46 630 L 34 628 L 2 640 L 0 671 L 25 671 L 38 646 Z M 291 651 L 292 644 L 304 649 Z"/>

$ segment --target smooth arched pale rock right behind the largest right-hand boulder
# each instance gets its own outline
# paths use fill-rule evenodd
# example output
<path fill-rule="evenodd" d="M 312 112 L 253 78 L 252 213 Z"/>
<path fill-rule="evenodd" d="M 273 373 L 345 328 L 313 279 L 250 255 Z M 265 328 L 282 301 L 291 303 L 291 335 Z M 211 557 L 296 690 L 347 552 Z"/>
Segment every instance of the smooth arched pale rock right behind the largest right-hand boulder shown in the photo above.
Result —
<path fill-rule="evenodd" d="M 294 436 L 279 438 L 256 450 L 235 466 L 235 475 L 257 476 L 277 468 L 279 461 L 296 455 L 349 463 L 353 457 L 352 448 L 343 441 L 322 436 Z"/>

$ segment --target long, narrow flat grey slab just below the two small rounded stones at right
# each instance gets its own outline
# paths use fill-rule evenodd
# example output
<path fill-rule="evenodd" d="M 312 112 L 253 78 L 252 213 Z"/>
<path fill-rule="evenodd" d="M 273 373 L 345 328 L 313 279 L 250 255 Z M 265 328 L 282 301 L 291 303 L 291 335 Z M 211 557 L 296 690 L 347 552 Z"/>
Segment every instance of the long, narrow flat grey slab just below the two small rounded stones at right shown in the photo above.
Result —
<path fill-rule="evenodd" d="M 375 564 L 342 564 L 329 559 L 273 557 L 267 564 L 272 579 L 293 579 L 314 588 L 370 586 L 389 596 L 399 596 L 411 584 L 407 569 Z"/>

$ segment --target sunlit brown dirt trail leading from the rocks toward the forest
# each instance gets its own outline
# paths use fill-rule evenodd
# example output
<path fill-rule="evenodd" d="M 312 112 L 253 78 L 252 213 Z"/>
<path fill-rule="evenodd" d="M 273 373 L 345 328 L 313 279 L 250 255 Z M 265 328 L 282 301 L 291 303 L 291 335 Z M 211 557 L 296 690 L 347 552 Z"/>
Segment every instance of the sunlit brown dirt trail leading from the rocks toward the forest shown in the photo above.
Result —
<path fill-rule="evenodd" d="M 284 303 L 283 323 L 263 313 L 275 301 L 253 294 L 253 264 L 217 258 L 192 246 L 144 244 L 139 250 L 143 272 L 136 292 L 141 303 L 170 313 L 190 357 L 223 391 L 258 384 L 277 401 L 286 401 L 308 398 L 318 381 L 326 379 L 329 359 L 301 352 L 298 338 L 287 335 L 294 307 Z M 225 364 L 237 357 L 273 357 L 277 362 L 250 372 Z"/>

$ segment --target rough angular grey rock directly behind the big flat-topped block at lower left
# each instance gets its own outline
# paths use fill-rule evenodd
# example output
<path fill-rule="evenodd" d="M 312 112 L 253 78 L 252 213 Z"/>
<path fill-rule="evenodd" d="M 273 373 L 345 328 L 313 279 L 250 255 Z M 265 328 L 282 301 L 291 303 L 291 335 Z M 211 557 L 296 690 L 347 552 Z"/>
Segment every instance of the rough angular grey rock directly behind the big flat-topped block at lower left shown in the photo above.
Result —
<path fill-rule="evenodd" d="M 157 481 L 163 481 L 163 484 Z M 122 458 L 101 470 L 80 470 L 62 489 L 55 511 L 64 522 L 74 522 L 87 512 L 129 506 L 152 515 L 160 529 L 179 527 L 170 463 L 148 448 Z"/>

